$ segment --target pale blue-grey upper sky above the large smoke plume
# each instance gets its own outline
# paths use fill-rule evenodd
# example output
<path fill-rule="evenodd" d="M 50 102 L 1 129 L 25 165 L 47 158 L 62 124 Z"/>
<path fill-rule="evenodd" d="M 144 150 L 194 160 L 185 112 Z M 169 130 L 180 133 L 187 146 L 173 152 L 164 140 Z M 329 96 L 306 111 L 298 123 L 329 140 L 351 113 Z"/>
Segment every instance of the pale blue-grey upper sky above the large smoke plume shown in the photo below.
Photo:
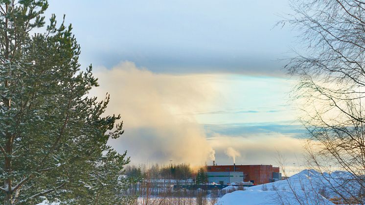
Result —
<path fill-rule="evenodd" d="M 81 63 L 132 61 L 154 72 L 278 71 L 293 33 L 288 0 L 50 0 L 72 23 Z"/>

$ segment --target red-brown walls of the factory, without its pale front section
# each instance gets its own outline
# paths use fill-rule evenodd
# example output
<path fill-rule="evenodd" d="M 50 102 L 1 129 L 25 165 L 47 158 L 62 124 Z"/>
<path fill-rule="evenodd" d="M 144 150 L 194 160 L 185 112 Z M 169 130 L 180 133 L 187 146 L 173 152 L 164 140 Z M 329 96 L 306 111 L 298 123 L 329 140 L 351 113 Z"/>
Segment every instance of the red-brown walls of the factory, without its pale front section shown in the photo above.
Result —
<path fill-rule="evenodd" d="M 273 165 L 210 165 L 205 166 L 207 172 L 243 172 L 244 181 L 255 184 L 274 182 L 274 173 L 279 173 L 279 167 Z"/>

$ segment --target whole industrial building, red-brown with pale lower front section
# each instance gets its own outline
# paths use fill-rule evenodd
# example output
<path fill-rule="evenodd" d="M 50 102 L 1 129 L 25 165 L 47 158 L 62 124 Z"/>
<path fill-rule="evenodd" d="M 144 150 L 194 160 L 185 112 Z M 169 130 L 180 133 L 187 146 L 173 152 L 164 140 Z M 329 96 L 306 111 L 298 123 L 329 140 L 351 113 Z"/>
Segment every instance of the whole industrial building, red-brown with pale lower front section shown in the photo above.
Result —
<path fill-rule="evenodd" d="M 206 173 L 209 178 L 209 182 L 252 182 L 255 184 L 269 183 L 277 180 L 281 180 L 281 173 L 279 167 L 273 167 L 273 165 L 216 165 L 213 161 L 213 165 L 205 166 Z M 216 173 L 222 173 L 221 175 Z M 225 174 L 223 174 L 225 173 Z M 228 175 L 227 175 L 228 173 Z M 243 178 L 230 178 L 227 176 L 233 176 L 230 173 L 240 173 L 239 176 Z M 210 177 L 209 177 L 210 176 Z M 221 176 L 221 177 L 216 177 Z M 236 175 L 234 175 L 236 176 Z M 210 180 L 210 178 L 212 180 Z"/>

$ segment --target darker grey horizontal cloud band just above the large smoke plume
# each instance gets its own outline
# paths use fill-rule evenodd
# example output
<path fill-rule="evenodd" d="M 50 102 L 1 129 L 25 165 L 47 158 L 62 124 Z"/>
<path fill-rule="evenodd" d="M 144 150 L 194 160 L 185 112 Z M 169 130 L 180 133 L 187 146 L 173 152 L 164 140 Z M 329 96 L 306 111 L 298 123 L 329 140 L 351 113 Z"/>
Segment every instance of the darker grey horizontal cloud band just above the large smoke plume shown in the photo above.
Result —
<path fill-rule="evenodd" d="M 264 75 L 275 77 L 287 77 L 283 70 L 284 61 L 275 57 L 266 56 L 221 56 L 198 55 L 188 56 L 176 54 L 169 56 L 168 53 L 160 55 L 131 55 L 103 52 L 93 57 L 96 65 L 104 65 L 112 68 L 120 61 L 128 60 L 137 66 L 149 68 L 157 73 L 239 73 L 247 75 Z"/>

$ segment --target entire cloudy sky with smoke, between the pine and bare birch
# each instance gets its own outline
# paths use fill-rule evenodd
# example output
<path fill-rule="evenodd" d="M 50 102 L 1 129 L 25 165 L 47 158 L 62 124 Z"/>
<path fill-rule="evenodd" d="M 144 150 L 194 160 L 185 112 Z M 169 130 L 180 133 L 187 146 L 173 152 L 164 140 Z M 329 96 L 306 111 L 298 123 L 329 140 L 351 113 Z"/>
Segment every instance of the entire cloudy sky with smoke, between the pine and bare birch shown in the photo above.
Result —
<path fill-rule="evenodd" d="M 92 94 L 111 93 L 108 112 L 122 114 L 126 130 L 111 143 L 132 162 L 198 164 L 215 150 L 225 164 L 228 147 L 239 164 L 274 164 L 276 150 L 300 155 L 303 131 L 288 97 L 295 80 L 277 61 L 296 46 L 296 33 L 275 26 L 288 0 L 49 4 L 46 16 L 66 14 L 82 67 L 92 64 L 100 78 Z"/>

